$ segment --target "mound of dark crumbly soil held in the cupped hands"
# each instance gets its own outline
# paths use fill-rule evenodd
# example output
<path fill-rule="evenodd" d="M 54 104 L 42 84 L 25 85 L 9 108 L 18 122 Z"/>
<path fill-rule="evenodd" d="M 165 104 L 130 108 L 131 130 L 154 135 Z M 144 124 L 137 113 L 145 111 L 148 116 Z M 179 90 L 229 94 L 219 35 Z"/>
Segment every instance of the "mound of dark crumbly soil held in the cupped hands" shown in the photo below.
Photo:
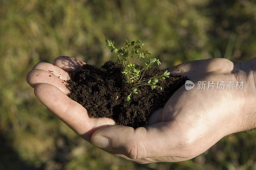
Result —
<path fill-rule="evenodd" d="M 171 75 L 157 83 L 163 87 L 163 91 L 140 86 L 138 94 L 132 94 L 131 100 L 126 102 L 124 97 L 130 94 L 131 84 L 124 83 L 121 72 L 122 66 L 113 61 L 99 68 L 85 64 L 82 69 L 69 72 L 67 87 L 71 93 L 68 97 L 83 105 L 90 117 L 108 117 L 114 119 L 117 125 L 137 128 L 143 127 L 150 114 L 164 107 L 172 94 L 188 80 L 181 75 Z M 163 73 L 163 70 L 149 68 L 143 79 Z"/>

